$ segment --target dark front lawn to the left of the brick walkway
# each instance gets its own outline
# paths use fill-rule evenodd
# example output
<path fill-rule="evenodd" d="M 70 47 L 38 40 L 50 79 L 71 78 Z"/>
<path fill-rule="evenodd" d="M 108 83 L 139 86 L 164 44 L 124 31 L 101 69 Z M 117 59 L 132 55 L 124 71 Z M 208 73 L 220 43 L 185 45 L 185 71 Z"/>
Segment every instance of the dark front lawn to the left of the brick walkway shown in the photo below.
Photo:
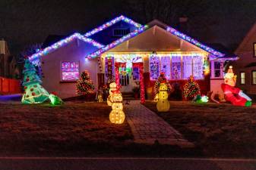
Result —
<path fill-rule="evenodd" d="M 0 156 L 111 153 L 133 140 L 128 123 L 109 122 L 104 103 L 0 104 Z M 113 147 L 113 148 L 112 148 Z"/>

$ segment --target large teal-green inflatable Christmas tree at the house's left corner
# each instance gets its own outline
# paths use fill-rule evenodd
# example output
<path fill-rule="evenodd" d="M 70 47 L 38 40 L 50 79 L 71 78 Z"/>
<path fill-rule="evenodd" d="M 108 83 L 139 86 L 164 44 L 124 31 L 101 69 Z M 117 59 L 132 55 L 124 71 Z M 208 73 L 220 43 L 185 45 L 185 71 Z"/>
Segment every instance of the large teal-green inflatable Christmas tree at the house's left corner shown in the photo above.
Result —
<path fill-rule="evenodd" d="M 42 81 L 36 74 L 36 69 L 30 60 L 25 60 L 24 65 L 24 94 L 21 102 L 23 104 L 40 104 L 49 99 L 49 93 L 40 85 Z"/>

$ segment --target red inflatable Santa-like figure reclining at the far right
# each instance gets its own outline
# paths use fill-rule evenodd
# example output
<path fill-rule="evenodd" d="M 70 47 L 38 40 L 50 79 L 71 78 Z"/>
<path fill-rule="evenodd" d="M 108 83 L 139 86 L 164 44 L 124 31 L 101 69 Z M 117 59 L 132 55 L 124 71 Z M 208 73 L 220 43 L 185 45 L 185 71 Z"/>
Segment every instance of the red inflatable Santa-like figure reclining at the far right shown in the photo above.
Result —
<path fill-rule="evenodd" d="M 244 94 L 240 88 L 235 88 L 235 82 L 236 76 L 232 66 L 229 66 L 228 73 L 224 76 L 224 83 L 221 85 L 225 99 L 235 106 L 251 107 L 251 98 Z"/>

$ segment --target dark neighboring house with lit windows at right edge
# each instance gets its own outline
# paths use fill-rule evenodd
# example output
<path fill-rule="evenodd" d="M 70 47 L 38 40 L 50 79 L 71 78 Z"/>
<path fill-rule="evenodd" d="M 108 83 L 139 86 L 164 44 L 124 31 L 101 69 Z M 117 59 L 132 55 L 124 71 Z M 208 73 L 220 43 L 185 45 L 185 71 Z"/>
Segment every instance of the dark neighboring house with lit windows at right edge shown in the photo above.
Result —
<path fill-rule="evenodd" d="M 236 85 L 251 96 L 256 96 L 256 23 L 235 50 L 239 60 L 234 62 Z"/>

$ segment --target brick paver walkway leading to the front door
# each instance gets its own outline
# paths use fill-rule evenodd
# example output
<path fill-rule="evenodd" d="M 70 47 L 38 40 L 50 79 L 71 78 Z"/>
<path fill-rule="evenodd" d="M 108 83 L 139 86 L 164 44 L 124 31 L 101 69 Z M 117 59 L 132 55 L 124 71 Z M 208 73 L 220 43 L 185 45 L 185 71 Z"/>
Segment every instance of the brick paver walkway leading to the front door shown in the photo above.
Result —
<path fill-rule="evenodd" d="M 131 100 L 129 105 L 125 105 L 125 115 L 136 143 L 154 144 L 157 140 L 160 144 L 193 147 L 179 131 L 140 104 L 139 100 Z"/>

